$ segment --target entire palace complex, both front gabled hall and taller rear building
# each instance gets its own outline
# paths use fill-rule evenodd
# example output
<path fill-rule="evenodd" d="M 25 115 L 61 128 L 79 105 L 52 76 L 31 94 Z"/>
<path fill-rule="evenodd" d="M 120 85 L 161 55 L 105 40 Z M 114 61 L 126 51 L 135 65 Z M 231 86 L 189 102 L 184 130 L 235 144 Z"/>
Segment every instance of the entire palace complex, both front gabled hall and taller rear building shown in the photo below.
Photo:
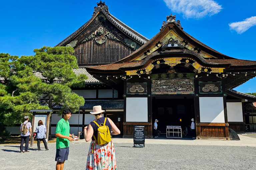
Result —
<path fill-rule="evenodd" d="M 233 88 L 256 76 L 256 61 L 224 55 L 196 40 L 172 14 L 160 32 L 148 40 L 97 3 L 92 18 L 56 46 L 71 46 L 79 68 L 86 74 L 85 87 L 72 91 L 85 104 L 70 118 L 71 133 L 83 131 L 101 105 L 121 130 L 133 136 L 134 125 L 144 125 L 152 137 L 154 120 L 158 129 L 190 126 L 195 119 L 196 138 L 229 139 L 235 131 L 256 131 L 256 97 Z M 40 76 L 40 75 L 38 75 Z M 52 114 L 51 134 L 60 120 Z M 19 134 L 19 128 L 7 128 Z"/>

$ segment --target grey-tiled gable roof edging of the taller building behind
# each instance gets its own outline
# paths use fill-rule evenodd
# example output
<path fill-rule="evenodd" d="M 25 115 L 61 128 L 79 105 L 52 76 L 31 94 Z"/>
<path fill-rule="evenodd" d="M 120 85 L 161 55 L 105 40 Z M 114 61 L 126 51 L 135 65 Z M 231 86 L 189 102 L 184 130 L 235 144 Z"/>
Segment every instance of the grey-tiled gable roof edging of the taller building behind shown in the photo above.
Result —
<path fill-rule="evenodd" d="M 68 44 L 69 42 L 71 42 L 76 36 L 79 35 L 79 33 L 81 33 L 87 26 L 90 25 L 90 23 L 96 19 L 96 17 L 100 14 L 103 13 L 104 16 L 110 21 L 112 22 L 113 25 L 115 25 L 119 30 L 121 30 L 122 32 L 124 32 L 125 34 L 127 34 L 127 36 L 131 37 L 132 39 L 134 39 L 136 42 L 139 42 L 140 44 L 144 44 L 148 41 L 148 39 L 144 36 L 142 36 L 141 34 L 139 34 L 138 32 L 134 31 L 132 28 L 128 27 L 127 25 L 125 25 L 123 22 L 121 22 L 120 20 L 118 20 L 116 17 L 114 17 L 113 15 L 111 15 L 108 11 L 108 6 L 105 5 L 105 2 L 101 2 L 97 3 L 97 7 L 94 7 L 94 12 L 92 15 L 92 18 L 87 21 L 82 27 L 80 27 L 79 29 L 77 29 L 74 33 L 72 33 L 70 36 L 68 36 L 66 39 L 64 39 L 62 42 L 58 43 L 56 46 L 63 46 Z M 88 35 L 89 36 L 89 35 Z"/>

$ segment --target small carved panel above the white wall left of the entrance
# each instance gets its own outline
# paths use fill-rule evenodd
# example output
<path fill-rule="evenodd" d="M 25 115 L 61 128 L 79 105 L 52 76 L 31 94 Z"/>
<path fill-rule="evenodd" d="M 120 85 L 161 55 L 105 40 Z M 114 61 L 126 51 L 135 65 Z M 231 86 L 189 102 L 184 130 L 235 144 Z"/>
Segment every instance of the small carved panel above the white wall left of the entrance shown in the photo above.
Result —
<path fill-rule="evenodd" d="M 147 83 L 127 83 L 127 94 L 147 94 Z"/>

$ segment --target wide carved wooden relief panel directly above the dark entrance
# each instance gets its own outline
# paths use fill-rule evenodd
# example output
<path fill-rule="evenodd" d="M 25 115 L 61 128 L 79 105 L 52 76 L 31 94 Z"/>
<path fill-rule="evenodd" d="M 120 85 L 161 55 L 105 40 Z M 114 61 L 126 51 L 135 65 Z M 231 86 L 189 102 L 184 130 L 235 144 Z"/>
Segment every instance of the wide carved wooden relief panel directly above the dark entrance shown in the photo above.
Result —
<path fill-rule="evenodd" d="M 152 80 L 152 94 L 194 93 L 193 79 Z"/>

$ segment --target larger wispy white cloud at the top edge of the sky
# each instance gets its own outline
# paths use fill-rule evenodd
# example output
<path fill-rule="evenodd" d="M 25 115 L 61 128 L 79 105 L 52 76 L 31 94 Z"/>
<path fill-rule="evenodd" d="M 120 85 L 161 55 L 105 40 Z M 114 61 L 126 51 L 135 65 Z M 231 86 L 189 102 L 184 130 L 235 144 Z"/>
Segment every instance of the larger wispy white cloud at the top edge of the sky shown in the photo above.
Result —
<path fill-rule="evenodd" d="M 172 12 L 182 13 L 184 18 L 203 18 L 217 14 L 221 5 L 213 0 L 164 0 Z"/>

